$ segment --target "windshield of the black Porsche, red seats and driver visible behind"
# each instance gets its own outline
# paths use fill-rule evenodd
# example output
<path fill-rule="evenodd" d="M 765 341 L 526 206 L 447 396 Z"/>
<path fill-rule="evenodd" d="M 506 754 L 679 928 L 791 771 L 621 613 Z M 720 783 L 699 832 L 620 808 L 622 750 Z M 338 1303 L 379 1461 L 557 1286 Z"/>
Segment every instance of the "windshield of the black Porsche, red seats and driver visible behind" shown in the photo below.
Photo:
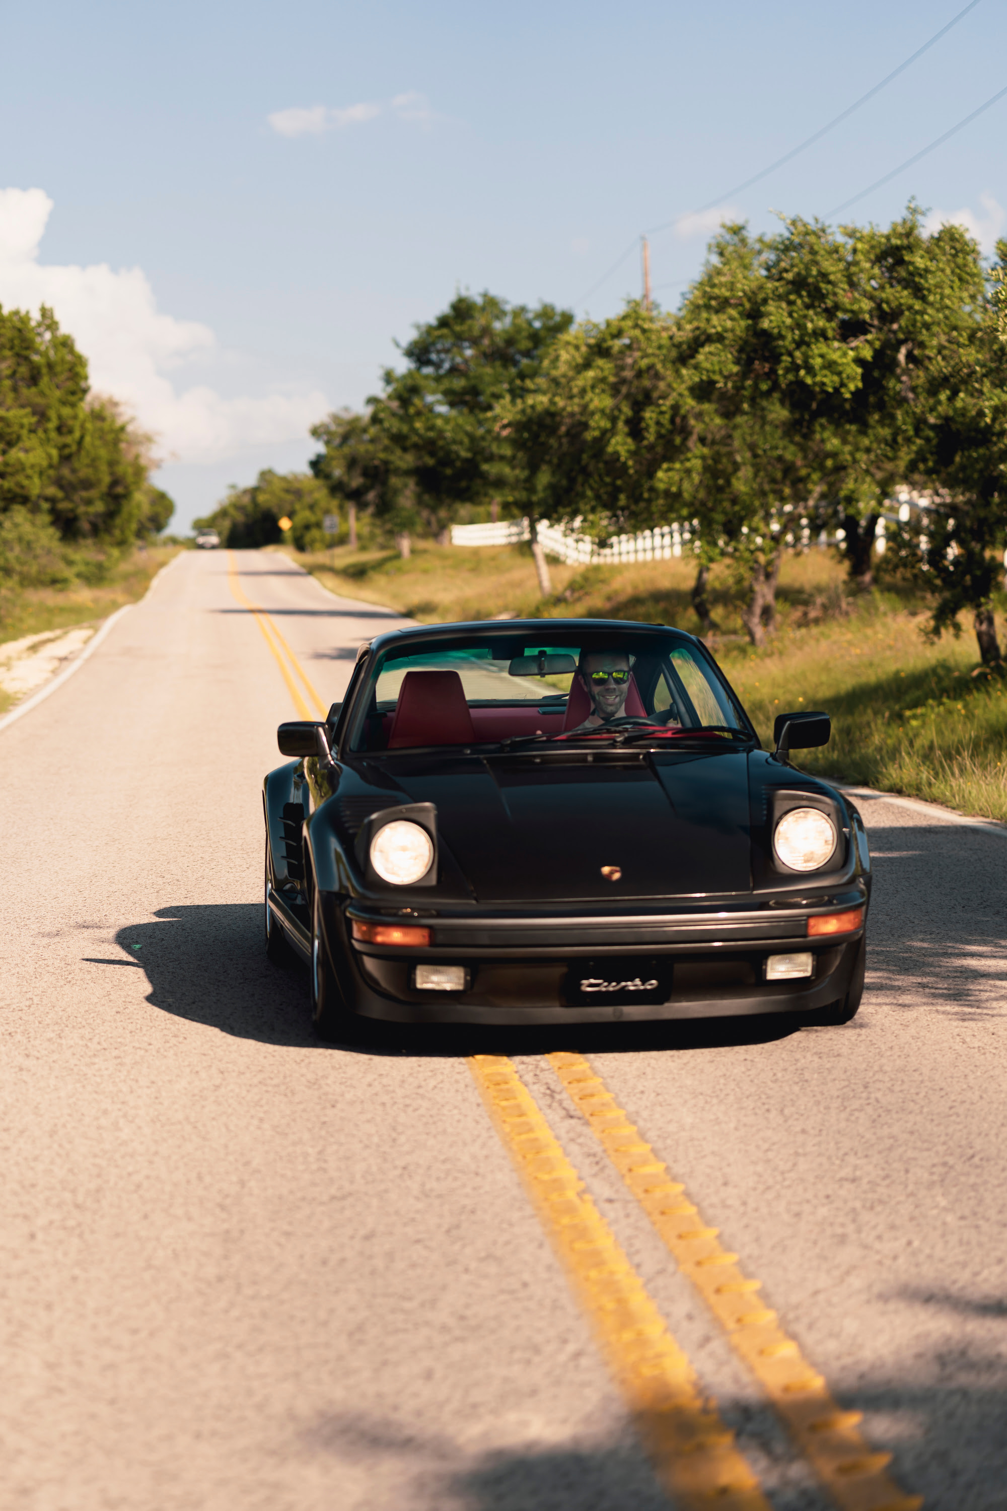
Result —
<path fill-rule="evenodd" d="M 613 626 L 408 639 L 373 657 L 349 746 L 356 751 L 515 742 L 625 743 L 701 731 L 750 737 L 713 660 L 675 632 Z"/>

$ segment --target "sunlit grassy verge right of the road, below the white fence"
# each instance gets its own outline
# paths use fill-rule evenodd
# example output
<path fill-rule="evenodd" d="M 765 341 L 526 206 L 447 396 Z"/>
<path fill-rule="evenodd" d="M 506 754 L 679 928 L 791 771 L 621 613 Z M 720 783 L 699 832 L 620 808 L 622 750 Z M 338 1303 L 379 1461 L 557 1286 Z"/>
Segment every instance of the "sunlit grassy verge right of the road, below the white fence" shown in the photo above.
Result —
<path fill-rule="evenodd" d="M 550 564 L 554 592 L 540 600 L 527 547 L 430 545 L 405 562 L 390 552 L 347 548 L 294 559 L 331 592 L 424 623 L 506 613 L 699 630 L 687 561 Z M 932 644 L 922 633 L 925 601 L 894 588 L 850 597 L 842 565 L 817 550 L 785 562 L 779 632 L 765 650 L 744 644 L 741 589 L 725 568 L 714 570 L 710 598 L 714 650 L 765 745 L 778 713 L 824 709 L 832 740 L 821 751 L 796 752 L 802 768 L 1007 820 L 1007 683 L 978 666 L 965 623 L 960 638 Z"/>

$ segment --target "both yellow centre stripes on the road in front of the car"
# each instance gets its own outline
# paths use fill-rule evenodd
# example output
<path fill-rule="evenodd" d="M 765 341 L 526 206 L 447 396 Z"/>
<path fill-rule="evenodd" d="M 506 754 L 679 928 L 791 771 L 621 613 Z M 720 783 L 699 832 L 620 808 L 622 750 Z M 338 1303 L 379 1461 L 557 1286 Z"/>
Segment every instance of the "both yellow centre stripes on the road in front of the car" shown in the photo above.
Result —
<path fill-rule="evenodd" d="M 891 1454 L 871 1451 L 859 1431 L 861 1413 L 839 1408 L 759 1298 L 761 1281 L 723 1248 L 719 1228 L 707 1225 L 602 1077 L 581 1055 L 550 1055 L 548 1062 L 832 1502 L 839 1511 L 919 1511 L 922 1497 L 904 1494 L 888 1473 Z M 682 1511 L 768 1511 L 716 1402 L 702 1398 L 688 1358 L 513 1064 L 476 1055 L 470 1068 L 675 1503 Z"/>

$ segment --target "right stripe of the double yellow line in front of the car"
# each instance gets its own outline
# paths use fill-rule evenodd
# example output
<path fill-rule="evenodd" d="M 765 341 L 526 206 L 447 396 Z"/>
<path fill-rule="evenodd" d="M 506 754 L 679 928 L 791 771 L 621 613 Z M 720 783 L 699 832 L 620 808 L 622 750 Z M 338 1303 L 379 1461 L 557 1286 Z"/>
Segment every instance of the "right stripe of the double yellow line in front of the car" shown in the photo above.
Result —
<path fill-rule="evenodd" d="M 667 1176 L 654 1150 L 616 1105 L 583 1055 L 550 1055 L 574 1106 L 627 1186 L 756 1377 L 802 1454 L 841 1511 L 919 1511 L 922 1496 L 904 1494 L 886 1472 L 891 1454 L 874 1454 L 861 1434 L 859 1411 L 841 1411 L 821 1375 L 761 1307 L 761 1281 L 743 1274 L 737 1254 L 722 1248 L 719 1228 L 705 1227 L 685 1188 Z"/>

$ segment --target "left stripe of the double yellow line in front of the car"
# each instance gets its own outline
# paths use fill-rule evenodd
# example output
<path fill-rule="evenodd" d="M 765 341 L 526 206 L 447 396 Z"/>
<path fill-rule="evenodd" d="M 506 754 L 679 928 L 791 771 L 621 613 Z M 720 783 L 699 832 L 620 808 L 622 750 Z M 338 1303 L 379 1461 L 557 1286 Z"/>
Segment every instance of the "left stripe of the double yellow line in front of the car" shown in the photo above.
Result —
<path fill-rule="evenodd" d="M 468 1065 L 675 1505 L 770 1511 L 716 1402 L 701 1396 L 688 1358 L 512 1062 L 474 1055 Z"/>

